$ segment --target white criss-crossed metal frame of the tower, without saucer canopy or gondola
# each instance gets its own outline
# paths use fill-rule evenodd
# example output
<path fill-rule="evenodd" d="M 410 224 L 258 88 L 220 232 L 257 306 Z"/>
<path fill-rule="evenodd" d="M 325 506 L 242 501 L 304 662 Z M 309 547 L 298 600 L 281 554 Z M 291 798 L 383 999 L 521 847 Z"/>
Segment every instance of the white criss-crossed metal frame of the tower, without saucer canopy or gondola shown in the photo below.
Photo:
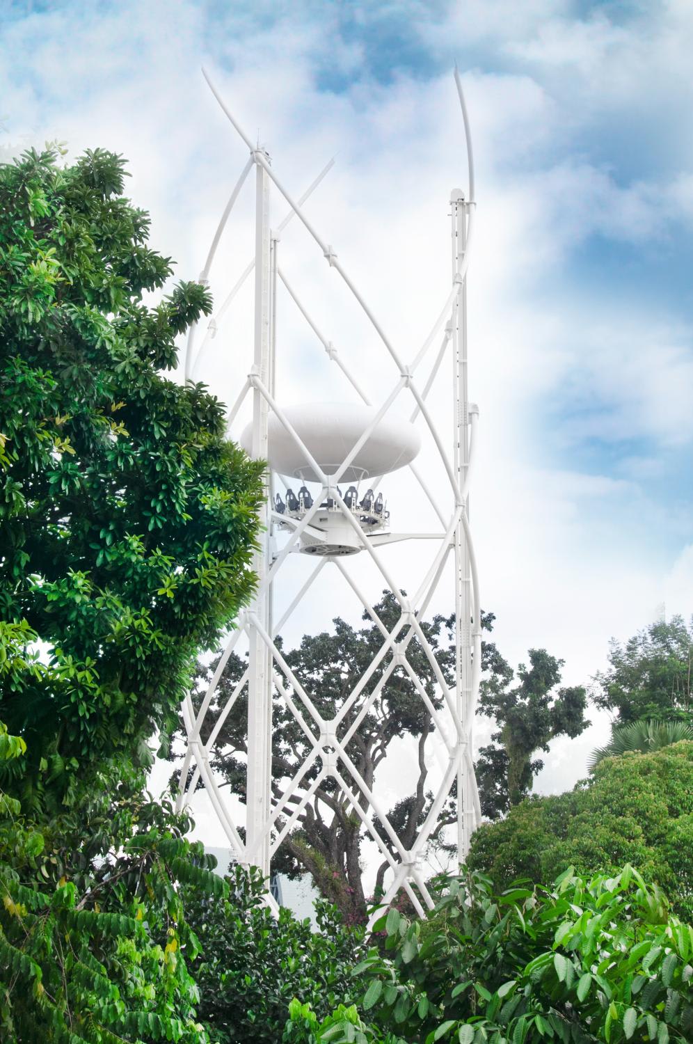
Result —
<path fill-rule="evenodd" d="M 191 331 L 186 355 L 186 379 L 193 379 L 196 362 L 199 360 L 208 339 L 214 336 L 219 322 L 241 285 L 255 269 L 254 364 L 229 412 L 229 429 L 233 431 L 239 410 L 249 397 L 253 406 L 252 455 L 263 459 L 267 457 L 268 424 L 270 414 L 273 413 L 292 441 L 302 459 L 305 460 L 306 466 L 319 480 L 321 490 L 302 517 L 290 519 L 286 515 L 278 514 L 274 509 L 273 483 L 276 478 L 281 479 L 281 476 L 269 476 L 268 498 L 261 517 L 264 530 L 261 546 L 254 560 L 254 568 L 258 575 L 254 602 L 240 615 L 238 625 L 229 638 L 199 710 L 195 711 L 191 696 L 188 696 L 184 703 L 183 716 L 188 734 L 188 746 L 181 774 L 178 806 L 183 806 L 201 779 L 229 839 L 234 857 L 243 865 L 259 867 L 267 876 L 271 856 L 277 852 L 287 834 L 296 826 L 302 811 L 307 803 L 313 799 L 320 783 L 326 778 L 331 777 L 391 869 L 383 902 L 389 903 L 401 888 L 405 888 L 416 910 L 423 914 L 424 905 L 430 907 L 432 900 L 424 879 L 422 857 L 455 782 L 458 794 L 456 845 L 460 860 L 463 859 L 468 851 L 470 836 L 480 820 L 479 798 L 472 761 L 472 730 L 479 689 L 481 614 L 477 569 L 469 526 L 469 489 L 474 460 L 478 410 L 476 406 L 469 403 L 467 353 L 467 271 L 474 230 L 475 190 L 470 126 L 459 73 L 455 70 L 455 82 L 467 143 L 469 191 L 465 196 L 461 191 L 455 190 L 451 196 L 452 268 L 447 300 L 428 337 L 408 363 L 386 336 L 363 296 L 344 271 L 332 246 L 322 241 L 303 209 L 306 199 L 327 174 L 332 162 L 328 164 L 304 195 L 294 200 L 270 165 L 267 153 L 259 146 L 253 145 L 248 136 L 230 113 L 207 73 L 205 75 L 221 109 L 244 141 L 250 155 L 219 222 L 205 268 L 200 275 L 200 281 L 207 282 L 208 280 L 221 233 L 243 183 L 254 168 L 256 175 L 256 251 L 255 258 L 231 289 L 217 315 L 210 322 L 206 339 L 197 352 L 195 352 L 194 343 L 195 330 Z M 276 231 L 270 229 L 269 220 L 271 186 L 289 206 L 287 216 Z M 348 362 L 338 354 L 333 342 L 327 339 L 317 328 L 279 266 L 280 234 L 294 216 L 298 218 L 317 244 L 330 267 L 347 284 L 391 360 L 396 378 L 391 390 L 377 408 L 374 407 L 351 372 Z M 284 285 L 313 333 L 321 341 L 329 358 L 339 367 L 359 399 L 375 408 L 373 420 L 347 454 L 341 466 L 332 474 L 326 474 L 313 458 L 309 448 L 304 444 L 278 401 L 279 393 L 274 386 L 278 283 Z M 437 354 L 428 377 L 423 380 L 421 371 L 424 360 L 438 336 L 440 336 L 440 342 Z M 454 424 L 453 431 L 444 437 L 437 430 L 428 399 L 436 375 L 446 361 L 450 364 L 449 373 L 452 377 Z M 421 425 L 421 420 L 423 420 L 424 431 L 439 454 L 447 475 L 449 499 L 443 505 L 438 502 L 430 490 L 423 471 L 413 461 L 408 466 L 411 478 L 419 483 L 430 502 L 440 523 L 439 531 L 435 533 L 372 532 L 368 535 L 364 531 L 364 527 L 359 524 L 358 515 L 355 515 L 351 505 L 348 505 L 342 499 L 338 483 L 361 449 L 367 444 L 377 425 L 386 417 L 395 401 L 403 395 L 408 395 L 412 399 L 411 422 L 419 420 Z M 354 531 L 358 546 L 362 547 L 363 552 L 371 557 L 381 579 L 397 599 L 401 615 L 391 630 L 388 630 L 380 620 L 365 592 L 354 577 L 350 568 L 352 560 L 329 554 L 319 557 L 317 564 L 308 555 L 303 556 L 302 561 L 305 563 L 308 573 L 305 583 L 281 619 L 277 621 L 272 619 L 272 590 L 282 576 L 282 568 L 287 556 L 300 550 L 302 535 L 311 535 L 314 539 L 315 533 L 317 533 L 319 539 L 319 529 L 313 528 L 311 523 L 314 521 L 324 498 L 328 498 L 332 502 L 333 509 L 342 513 L 347 524 Z M 288 538 L 280 549 L 272 551 L 272 537 L 280 531 L 280 527 L 284 533 L 288 529 Z M 429 541 L 428 544 L 423 545 L 424 547 L 430 547 L 430 541 L 433 539 L 435 551 L 419 589 L 413 596 L 408 597 L 402 593 L 400 585 L 388 566 L 386 547 L 397 541 L 417 539 Z M 455 577 L 456 621 L 456 680 L 452 686 L 446 681 L 434 650 L 420 622 L 440 584 L 444 572 L 446 569 L 450 569 L 451 561 Z M 325 720 L 316 710 L 305 687 L 287 664 L 274 639 L 289 617 L 309 595 L 312 585 L 329 562 L 336 566 L 374 621 L 382 636 L 382 645 L 368 668 L 360 678 L 355 679 L 354 686 L 336 716 L 332 720 Z M 220 713 L 214 729 L 204 741 L 201 733 L 205 717 L 229 658 L 242 636 L 245 636 L 248 643 L 247 668 L 235 686 L 225 706 L 219 708 Z M 434 699 L 431 699 L 424 683 L 416 675 L 407 658 L 407 648 L 413 639 L 424 650 L 436 680 L 438 691 Z M 377 683 L 371 688 L 371 691 L 367 691 L 371 680 L 381 669 L 381 665 L 385 664 L 386 666 L 384 666 Z M 359 726 L 397 668 L 401 668 L 406 673 L 421 696 L 438 737 L 438 751 L 445 752 L 439 785 L 410 848 L 404 847 L 392 828 L 387 810 L 378 793 L 377 785 L 374 784 L 373 787 L 367 785 L 349 751 L 349 744 L 357 734 Z M 248 757 L 245 839 L 242 840 L 232 808 L 210 765 L 210 753 L 224 720 L 244 691 L 247 691 L 248 695 Z M 295 718 L 310 750 L 308 757 L 293 779 L 286 781 L 279 798 L 276 792 L 272 794 L 271 787 L 272 699 L 276 693 L 284 701 L 286 708 Z M 354 716 L 350 720 L 352 714 Z M 315 768 L 317 772 L 308 782 L 307 775 L 313 774 Z M 381 825 L 382 830 L 377 829 L 376 823 Z M 382 832 L 389 839 L 389 845 L 384 841 Z M 269 895 L 267 901 L 272 905 L 273 900 Z"/>

